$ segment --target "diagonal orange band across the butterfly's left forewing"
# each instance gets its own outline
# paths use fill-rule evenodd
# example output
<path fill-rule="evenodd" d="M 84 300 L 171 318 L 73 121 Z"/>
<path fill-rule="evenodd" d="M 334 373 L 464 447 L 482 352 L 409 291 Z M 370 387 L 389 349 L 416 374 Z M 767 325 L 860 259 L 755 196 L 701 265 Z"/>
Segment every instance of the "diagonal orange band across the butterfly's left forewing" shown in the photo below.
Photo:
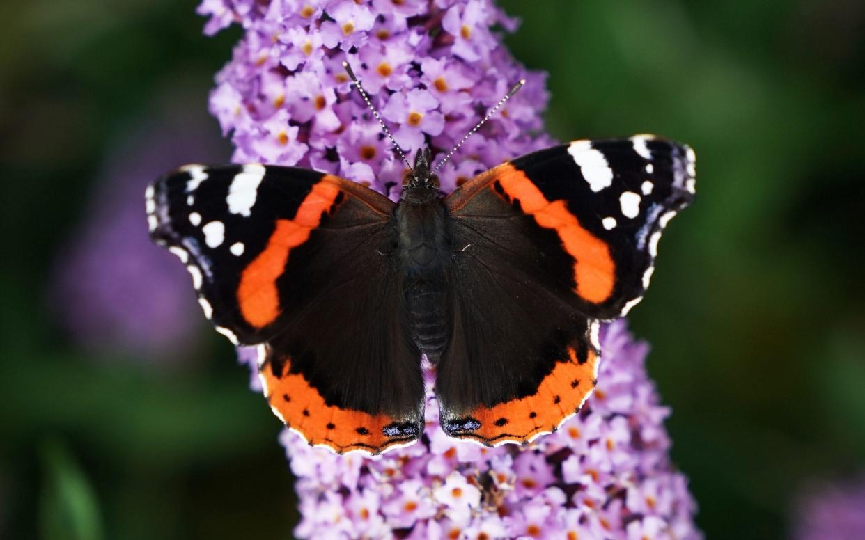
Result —
<path fill-rule="evenodd" d="M 314 185 L 298 206 L 294 219 L 278 219 L 264 251 L 255 257 L 240 276 L 237 301 L 240 313 L 250 326 L 261 328 L 279 316 L 276 280 L 285 271 L 288 255 L 310 238 L 321 223 L 322 213 L 333 206 L 339 187 L 329 176 Z"/>

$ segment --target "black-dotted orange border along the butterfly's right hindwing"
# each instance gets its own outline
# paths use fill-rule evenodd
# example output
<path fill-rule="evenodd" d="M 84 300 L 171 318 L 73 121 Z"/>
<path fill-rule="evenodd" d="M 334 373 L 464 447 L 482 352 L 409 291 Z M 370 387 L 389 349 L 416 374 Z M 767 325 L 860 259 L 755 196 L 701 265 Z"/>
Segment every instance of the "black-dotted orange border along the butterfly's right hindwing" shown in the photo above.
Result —
<path fill-rule="evenodd" d="M 471 411 L 468 416 L 480 426 L 454 436 L 497 445 L 529 442 L 557 429 L 580 410 L 594 390 L 597 376 L 598 355 L 592 350 L 583 364 L 577 361 L 573 348 L 568 353 L 570 360 L 557 363 L 534 395 Z"/>

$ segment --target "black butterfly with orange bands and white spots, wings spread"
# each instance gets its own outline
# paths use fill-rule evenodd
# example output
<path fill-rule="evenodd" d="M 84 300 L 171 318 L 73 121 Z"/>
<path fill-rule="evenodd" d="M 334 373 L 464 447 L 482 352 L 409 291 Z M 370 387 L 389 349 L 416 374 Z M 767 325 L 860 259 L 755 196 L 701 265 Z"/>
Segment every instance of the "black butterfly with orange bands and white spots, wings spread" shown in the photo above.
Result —
<path fill-rule="evenodd" d="M 378 454 L 420 437 L 424 354 L 448 435 L 556 429 L 593 391 L 598 321 L 640 301 L 695 192 L 694 151 L 650 135 L 543 149 L 445 196 L 430 162 L 418 152 L 398 203 L 258 164 L 148 187 L 151 237 L 216 329 L 260 347 L 273 412 L 311 444 Z"/>

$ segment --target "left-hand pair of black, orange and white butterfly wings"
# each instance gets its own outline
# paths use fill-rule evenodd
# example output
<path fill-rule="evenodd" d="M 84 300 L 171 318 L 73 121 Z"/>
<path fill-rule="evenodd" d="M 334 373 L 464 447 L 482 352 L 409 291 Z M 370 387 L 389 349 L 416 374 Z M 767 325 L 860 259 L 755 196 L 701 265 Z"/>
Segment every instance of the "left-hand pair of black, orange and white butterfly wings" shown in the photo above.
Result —
<path fill-rule="evenodd" d="M 149 188 L 147 210 L 216 329 L 259 346 L 286 425 L 337 452 L 420 435 L 420 352 L 387 256 L 392 201 L 303 168 L 193 165 Z"/>

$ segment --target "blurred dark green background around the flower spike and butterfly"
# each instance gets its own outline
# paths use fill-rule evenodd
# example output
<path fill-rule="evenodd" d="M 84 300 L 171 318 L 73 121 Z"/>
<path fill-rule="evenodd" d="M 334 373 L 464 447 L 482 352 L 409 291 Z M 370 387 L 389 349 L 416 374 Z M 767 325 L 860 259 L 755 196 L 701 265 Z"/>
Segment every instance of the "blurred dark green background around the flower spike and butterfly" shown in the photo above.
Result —
<path fill-rule="evenodd" d="M 522 17 L 513 54 L 550 73 L 555 137 L 695 148 L 697 201 L 631 327 L 652 344 L 698 524 L 788 536 L 805 486 L 865 468 L 865 4 L 503 4 Z M 206 38 L 194 8 L 0 7 L 0 537 L 290 537 L 296 523 L 279 424 L 223 338 L 202 323 L 182 349 L 99 346 L 68 330 L 79 306 L 58 306 L 63 253 L 111 204 L 93 192 L 124 152 L 218 137 L 208 91 L 240 30 Z"/>

